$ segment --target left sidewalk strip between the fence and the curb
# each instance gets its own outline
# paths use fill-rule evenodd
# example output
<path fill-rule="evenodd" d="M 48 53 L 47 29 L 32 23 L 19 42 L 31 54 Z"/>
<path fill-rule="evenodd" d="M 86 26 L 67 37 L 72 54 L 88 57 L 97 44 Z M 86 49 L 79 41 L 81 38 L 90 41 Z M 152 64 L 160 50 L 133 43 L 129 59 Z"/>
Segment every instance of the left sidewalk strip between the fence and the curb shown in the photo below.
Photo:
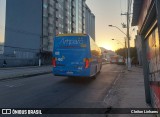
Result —
<path fill-rule="evenodd" d="M 52 66 L 41 66 L 41 67 L 27 66 L 27 67 L 0 68 L 0 80 L 47 74 L 47 73 L 51 73 L 51 71 L 52 71 Z"/>

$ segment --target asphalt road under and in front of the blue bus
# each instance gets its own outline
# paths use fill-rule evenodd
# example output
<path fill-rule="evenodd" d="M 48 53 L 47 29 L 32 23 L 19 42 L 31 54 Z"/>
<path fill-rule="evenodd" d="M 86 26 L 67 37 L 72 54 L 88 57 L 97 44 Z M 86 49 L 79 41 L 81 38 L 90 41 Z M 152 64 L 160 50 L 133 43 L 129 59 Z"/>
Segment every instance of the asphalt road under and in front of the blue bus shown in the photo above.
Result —
<path fill-rule="evenodd" d="M 46 74 L 0 81 L 1 108 L 107 107 L 104 98 L 124 66 L 103 65 L 96 79 Z"/>

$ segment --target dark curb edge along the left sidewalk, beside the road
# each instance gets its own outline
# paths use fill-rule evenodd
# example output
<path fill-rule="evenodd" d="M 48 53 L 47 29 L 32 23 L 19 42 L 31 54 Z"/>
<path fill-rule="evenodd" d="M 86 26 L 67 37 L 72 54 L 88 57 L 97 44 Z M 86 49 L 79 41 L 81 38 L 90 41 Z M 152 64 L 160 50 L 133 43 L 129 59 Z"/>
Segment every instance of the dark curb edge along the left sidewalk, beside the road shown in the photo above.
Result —
<path fill-rule="evenodd" d="M 18 79 L 18 78 L 28 78 L 28 77 L 32 77 L 32 76 L 39 76 L 39 75 L 50 74 L 50 73 L 52 73 L 52 71 L 46 71 L 46 72 L 42 72 L 42 73 L 18 74 L 15 76 L 7 76 L 7 77 L 0 78 L 0 81 L 1 80 L 9 80 L 9 79 Z"/>

